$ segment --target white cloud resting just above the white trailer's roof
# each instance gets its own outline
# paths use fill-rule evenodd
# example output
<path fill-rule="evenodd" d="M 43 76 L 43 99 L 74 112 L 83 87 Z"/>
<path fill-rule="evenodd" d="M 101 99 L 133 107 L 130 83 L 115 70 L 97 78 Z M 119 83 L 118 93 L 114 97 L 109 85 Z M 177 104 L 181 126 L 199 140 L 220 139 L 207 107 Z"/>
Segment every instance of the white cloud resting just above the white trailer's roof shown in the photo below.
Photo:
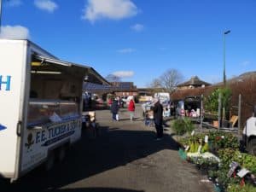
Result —
<path fill-rule="evenodd" d="M 24 26 L 2 26 L 0 38 L 28 39 L 29 30 Z"/>

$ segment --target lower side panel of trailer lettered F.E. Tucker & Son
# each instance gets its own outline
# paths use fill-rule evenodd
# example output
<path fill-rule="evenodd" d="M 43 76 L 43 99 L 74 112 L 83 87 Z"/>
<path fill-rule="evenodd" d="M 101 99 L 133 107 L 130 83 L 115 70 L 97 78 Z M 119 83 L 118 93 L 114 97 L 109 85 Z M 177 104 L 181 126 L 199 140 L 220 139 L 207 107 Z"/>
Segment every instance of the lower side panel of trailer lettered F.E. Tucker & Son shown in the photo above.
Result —
<path fill-rule="evenodd" d="M 55 144 L 66 139 L 70 142 L 79 139 L 80 129 L 81 119 L 72 119 L 27 130 L 23 143 L 22 171 L 47 158 L 49 148 L 54 148 Z"/>

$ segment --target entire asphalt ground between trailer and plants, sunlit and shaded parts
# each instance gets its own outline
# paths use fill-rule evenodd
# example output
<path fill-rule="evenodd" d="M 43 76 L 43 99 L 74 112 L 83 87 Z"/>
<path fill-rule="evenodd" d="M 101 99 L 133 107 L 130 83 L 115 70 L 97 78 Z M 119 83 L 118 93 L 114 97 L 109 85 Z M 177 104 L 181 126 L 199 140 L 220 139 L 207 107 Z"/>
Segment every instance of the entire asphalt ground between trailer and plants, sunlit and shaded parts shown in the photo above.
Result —
<path fill-rule="evenodd" d="M 154 127 L 144 125 L 142 108 L 137 105 L 131 121 L 127 109 L 112 121 L 108 109 L 97 110 L 100 134 L 82 138 L 66 159 L 49 172 L 40 168 L 16 183 L 0 184 L 1 191 L 58 192 L 212 192 L 207 177 L 178 156 L 172 129 L 155 140 Z"/>

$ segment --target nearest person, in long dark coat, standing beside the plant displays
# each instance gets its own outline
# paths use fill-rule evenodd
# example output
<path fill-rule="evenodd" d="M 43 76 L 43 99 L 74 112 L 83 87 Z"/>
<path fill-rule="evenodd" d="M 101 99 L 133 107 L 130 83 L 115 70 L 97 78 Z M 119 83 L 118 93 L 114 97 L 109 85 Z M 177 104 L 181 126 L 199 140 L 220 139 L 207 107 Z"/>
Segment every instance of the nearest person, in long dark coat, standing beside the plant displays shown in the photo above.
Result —
<path fill-rule="evenodd" d="M 154 126 L 156 129 L 156 139 L 160 140 L 163 137 L 163 106 L 158 98 L 154 98 Z"/>

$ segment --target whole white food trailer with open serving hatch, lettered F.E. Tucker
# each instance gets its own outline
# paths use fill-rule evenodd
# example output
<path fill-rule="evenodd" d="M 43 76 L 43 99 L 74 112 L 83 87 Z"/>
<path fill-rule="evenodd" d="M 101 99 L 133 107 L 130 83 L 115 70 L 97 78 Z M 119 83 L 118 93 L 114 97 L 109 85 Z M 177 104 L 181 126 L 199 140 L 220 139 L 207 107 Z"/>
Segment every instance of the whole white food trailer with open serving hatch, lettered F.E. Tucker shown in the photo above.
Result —
<path fill-rule="evenodd" d="M 15 181 L 62 159 L 81 136 L 84 77 L 91 67 L 60 61 L 28 40 L 0 39 L 0 177 Z"/>

